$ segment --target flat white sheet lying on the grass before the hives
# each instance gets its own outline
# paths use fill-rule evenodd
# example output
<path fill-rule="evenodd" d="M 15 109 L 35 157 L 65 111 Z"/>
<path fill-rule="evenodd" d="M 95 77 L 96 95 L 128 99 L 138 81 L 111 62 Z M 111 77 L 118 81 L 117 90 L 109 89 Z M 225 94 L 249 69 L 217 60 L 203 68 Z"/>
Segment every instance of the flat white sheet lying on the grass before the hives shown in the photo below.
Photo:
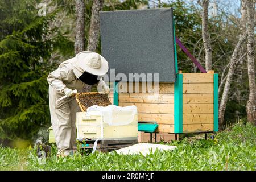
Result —
<path fill-rule="evenodd" d="M 133 146 L 121 148 L 119 150 L 116 150 L 118 154 L 125 154 L 125 155 L 134 155 L 139 154 L 140 152 L 142 155 L 146 156 L 147 154 L 150 154 L 150 150 L 152 150 L 152 153 L 156 151 L 156 148 L 158 148 L 159 151 L 172 151 L 176 148 L 176 146 L 167 146 L 165 144 L 153 144 L 153 143 L 138 143 L 134 144 Z"/>

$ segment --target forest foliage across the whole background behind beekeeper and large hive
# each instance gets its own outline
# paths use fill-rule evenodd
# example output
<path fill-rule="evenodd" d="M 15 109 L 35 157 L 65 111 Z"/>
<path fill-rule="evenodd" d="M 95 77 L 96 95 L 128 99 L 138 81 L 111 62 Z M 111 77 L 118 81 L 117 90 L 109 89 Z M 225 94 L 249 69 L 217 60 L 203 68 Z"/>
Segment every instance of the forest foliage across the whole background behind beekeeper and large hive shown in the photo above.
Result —
<path fill-rule="evenodd" d="M 0 141 L 16 138 L 32 140 L 39 129 L 51 125 L 46 77 L 57 68 L 57 64 L 74 56 L 75 1 L 46 1 L 47 14 L 42 17 L 38 16 L 36 7 L 40 2 L 0 1 Z M 108 0 L 104 3 L 103 11 L 139 9 L 142 6 L 149 7 L 148 2 Z M 92 4 L 93 1 L 86 1 L 85 45 Z M 184 0 L 164 1 L 161 7 L 174 8 L 176 35 L 204 66 L 200 9 Z M 225 67 L 240 32 L 233 22 L 236 20 L 225 12 L 209 19 L 213 69 L 219 73 L 220 81 L 221 73 L 228 70 L 225 71 Z M 100 42 L 96 52 L 101 53 Z M 177 56 L 179 69 L 183 72 L 199 72 L 179 47 Z M 246 115 L 248 81 L 247 75 L 241 72 L 246 68 L 244 62 L 234 75 L 236 82 L 232 84 L 233 91 L 230 92 L 225 115 L 227 121 Z"/>

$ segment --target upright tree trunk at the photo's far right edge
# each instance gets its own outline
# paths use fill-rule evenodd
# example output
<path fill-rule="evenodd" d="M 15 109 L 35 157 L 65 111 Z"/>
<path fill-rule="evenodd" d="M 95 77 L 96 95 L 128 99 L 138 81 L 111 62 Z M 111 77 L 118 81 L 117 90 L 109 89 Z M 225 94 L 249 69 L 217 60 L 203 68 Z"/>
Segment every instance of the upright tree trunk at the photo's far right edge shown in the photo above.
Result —
<path fill-rule="evenodd" d="M 248 59 L 248 78 L 249 78 L 249 99 L 247 101 L 247 119 L 256 124 L 256 88 L 255 88 L 255 67 L 254 67 L 254 0 L 247 0 L 247 59 Z"/>

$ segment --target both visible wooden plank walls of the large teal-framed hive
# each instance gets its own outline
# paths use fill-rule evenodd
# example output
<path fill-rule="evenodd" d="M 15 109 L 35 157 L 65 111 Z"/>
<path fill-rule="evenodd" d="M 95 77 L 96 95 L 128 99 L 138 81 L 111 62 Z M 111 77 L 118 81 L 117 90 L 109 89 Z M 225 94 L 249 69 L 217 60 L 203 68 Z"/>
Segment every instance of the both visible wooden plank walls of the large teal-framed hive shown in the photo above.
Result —
<path fill-rule="evenodd" d="M 174 133 L 174 83 L 156 88 L 159 93 L 152 93 L 154 83 L 134 82 L 128 93 L 129 84 L 119 82 L 119 106 L 135 105 L 138 121 L 157 121 L 157 131 Z M 113 90 L 109 97 L 113 103 Z M 213 73 L 183 73 L 183 132 L 200 131 L 213 131 Z"/>

